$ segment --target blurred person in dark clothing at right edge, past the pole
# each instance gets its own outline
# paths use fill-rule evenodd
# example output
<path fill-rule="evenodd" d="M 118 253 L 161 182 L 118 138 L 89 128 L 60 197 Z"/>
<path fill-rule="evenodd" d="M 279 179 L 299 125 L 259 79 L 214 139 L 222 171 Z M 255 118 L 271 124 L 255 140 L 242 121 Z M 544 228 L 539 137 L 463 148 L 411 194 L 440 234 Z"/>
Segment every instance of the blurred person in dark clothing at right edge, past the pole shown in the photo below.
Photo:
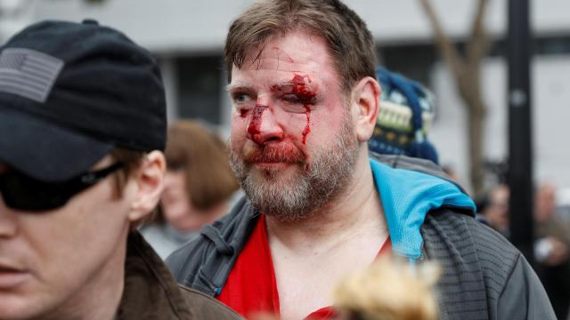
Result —
<path fill-rule="evenodd" d="M 558 217 L 556 193 L 556 186 L 549 182 L 536 190 L 534 256 L 554 312 L 558 319 L 566 319 L 570 308 L 570 226 Z"/>

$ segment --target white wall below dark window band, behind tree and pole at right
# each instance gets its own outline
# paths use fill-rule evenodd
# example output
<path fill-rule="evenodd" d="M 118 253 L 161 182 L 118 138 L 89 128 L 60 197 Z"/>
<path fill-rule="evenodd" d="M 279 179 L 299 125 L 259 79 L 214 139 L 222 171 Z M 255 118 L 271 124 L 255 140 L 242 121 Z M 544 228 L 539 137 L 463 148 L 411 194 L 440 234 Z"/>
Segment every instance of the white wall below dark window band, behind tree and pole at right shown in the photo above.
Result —
<path fill-rule="evenodd" d="M 570 57 L 533 60 L 534 177 L 570 188 Z M 451 74 L 443 65 L 433 72 L 437 97 L 436 123 L 429 133 L 443 164 L 452 164 L 467 185 L 468 146 L 466 108 Z M 487 104 L 485 157 L 505 159 L 508 152 L 507 67 L 502 59 L 486 60 L 482 90 Z"/>

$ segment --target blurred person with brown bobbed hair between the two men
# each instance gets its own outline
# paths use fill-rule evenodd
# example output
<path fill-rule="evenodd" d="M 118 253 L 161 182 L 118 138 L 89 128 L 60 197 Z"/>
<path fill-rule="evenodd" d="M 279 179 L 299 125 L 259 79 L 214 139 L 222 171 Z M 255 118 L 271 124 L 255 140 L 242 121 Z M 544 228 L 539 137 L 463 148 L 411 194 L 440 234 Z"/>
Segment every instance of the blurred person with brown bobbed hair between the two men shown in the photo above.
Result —
<path fill-rule="evenodd" d="M 162 259 L 199 236 L 199 229 L 228 212 L 239 185 L 230 168 L 227 146 L 216 134 L 191 120 L 168 128 L 167 175 L 159 208 L 142 236 Z"/>

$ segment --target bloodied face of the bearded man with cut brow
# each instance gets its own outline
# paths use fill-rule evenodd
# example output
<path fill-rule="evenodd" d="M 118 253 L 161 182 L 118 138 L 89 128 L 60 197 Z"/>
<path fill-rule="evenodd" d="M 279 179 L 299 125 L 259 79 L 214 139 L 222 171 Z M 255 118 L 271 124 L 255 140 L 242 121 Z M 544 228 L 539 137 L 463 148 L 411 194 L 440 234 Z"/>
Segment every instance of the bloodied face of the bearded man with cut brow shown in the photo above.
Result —
<path fill-rule="evenodd" d="M 358 142 L 332 66 L 320 36 L 291 32 L 232 69 L 232 168 L 262 212 L 297 220 L 354 170 Z"/>

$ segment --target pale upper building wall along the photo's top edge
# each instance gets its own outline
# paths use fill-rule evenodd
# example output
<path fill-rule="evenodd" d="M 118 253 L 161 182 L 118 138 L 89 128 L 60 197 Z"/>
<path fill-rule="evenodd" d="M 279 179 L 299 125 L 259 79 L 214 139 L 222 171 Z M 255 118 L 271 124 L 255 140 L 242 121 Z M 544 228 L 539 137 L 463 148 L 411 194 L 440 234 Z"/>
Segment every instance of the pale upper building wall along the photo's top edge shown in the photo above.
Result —
<path fill-rule="evenodd" d="M 22 0 L 2 0 L 22 1 Z M 29 0 L 28 0 L 29 1 Z M 154 52 L 220 50 L 230 21 L 253 0 L 36 0 L 37 19 L 82 20 L 85 17 L 119 28 Z M 468 35 L 477 0 L 432 0 L 450 35 Z M 379 42 L 430 41 L 431 27 L 419 0 L 345 0 L 368 23 Z M 507 26 L 507 0 L 490 0 L 486 16 L 493 35 Z M 570 30 L 570 1 L 534 0 L 536 32 Z"/>

